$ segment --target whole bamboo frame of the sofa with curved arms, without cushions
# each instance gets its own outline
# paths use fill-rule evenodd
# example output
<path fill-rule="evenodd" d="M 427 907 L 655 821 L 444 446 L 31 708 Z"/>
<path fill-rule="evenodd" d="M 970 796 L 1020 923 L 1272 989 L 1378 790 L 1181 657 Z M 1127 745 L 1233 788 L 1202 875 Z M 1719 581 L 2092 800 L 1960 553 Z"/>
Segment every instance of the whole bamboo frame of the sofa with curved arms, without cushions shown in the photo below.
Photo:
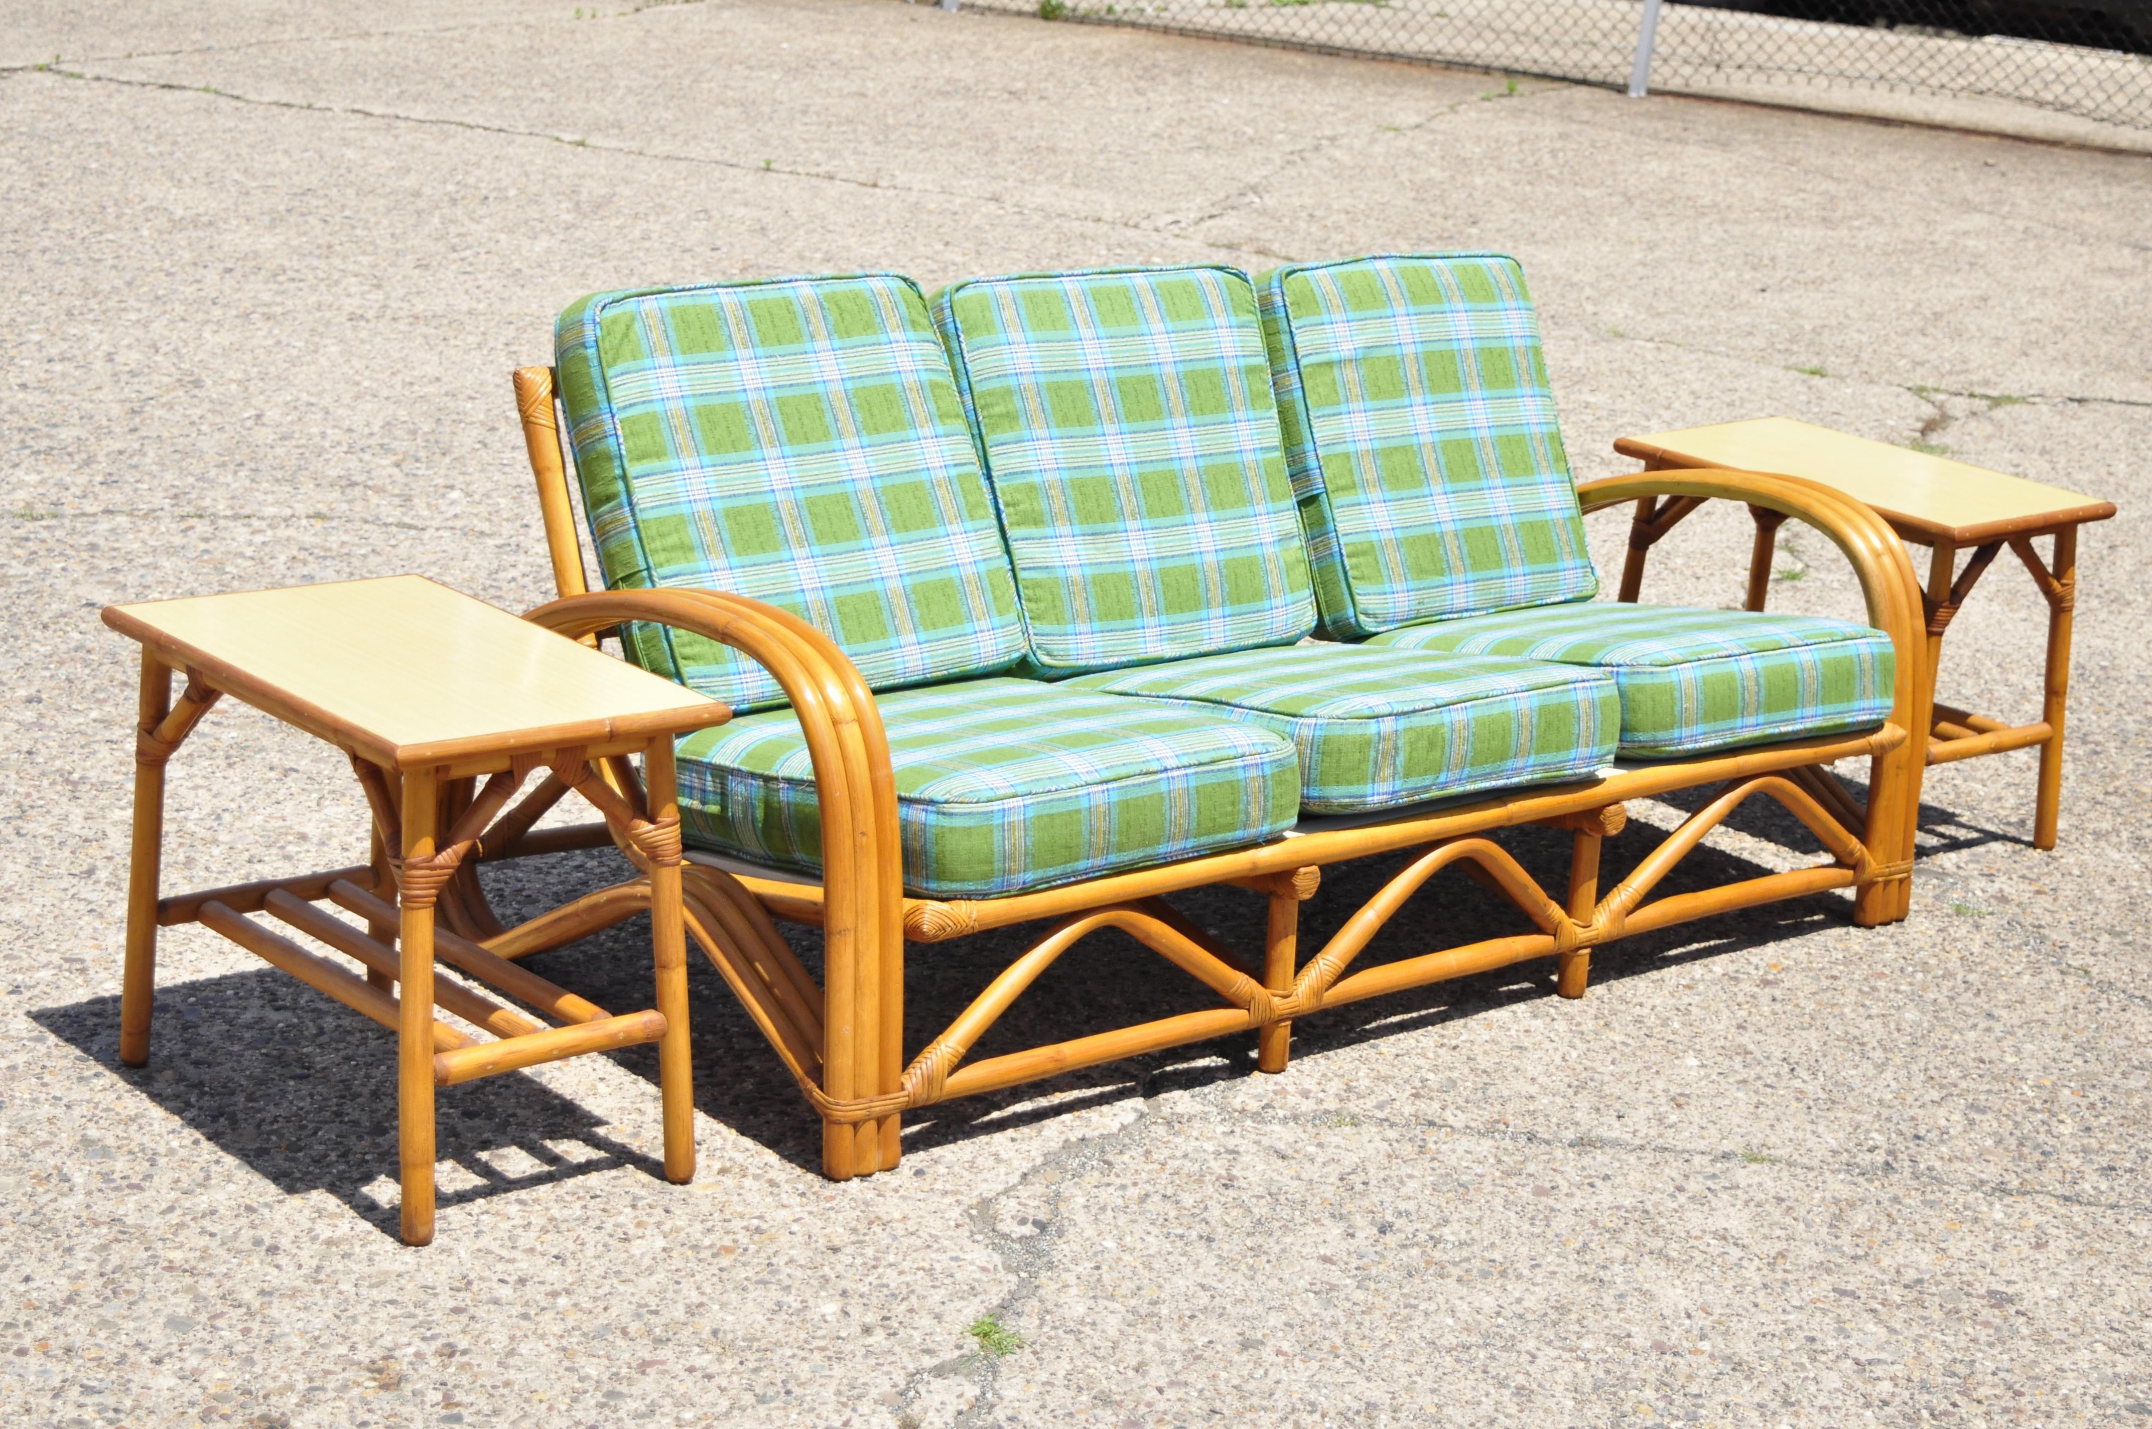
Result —
<path fill-rule="evenodd" d="M 1394 816 L 1311 822 L 1255 848 L 1207 854 L 1151 869 L 990 900 L 934 900 L 904 893 L 897 844 L 897 794 L 880 714 L 865 682 L 837 646 L 807 622 L 770 605 L 714 590 L 592 592 L 568 493 L 568 461 L 555 413 L 555 374 L 514 372 L 547 549 L 560 598 L 527 613 L 547 628 L 594 643 L 624 622 L 654 622 L 732 646 L 760 663 L 790 697 L 813 762 L 822 818 L 822 880 L 753 872 L 725 859 L 684 869 L 691 936 L 725 977 L 777 1057 L 822 1119 L 822 1171 L 848 1179 L 897 1164 L 906 1110 L 1029 1083 L 1074 1067 L 1153 1052 L 1229 1033 L 1257 1033 L 1257 1065 L 1283 1072 L 1289 1027 L 1323 1007 L 1384 992 L 1468 977 L 1534 958 L 1556 958 L 1556 990 L 1584 996 L 1590 949 L 1625 934 L 1685 923 L 1825 889 L 1853 889 L 1853 921 L 1879 925 L 1909 908 L 1913 818 L 1922 760 L 1907 738 L 1926 730 L 1930 710 L 1920 678 L 1920 588 L 1892 529 L 1866 506 L 1799 478 L 1754 471 L 1646 471 L 1586 482 L 1586 512 L 1663 499 L 1735 499 L 1823 532 L 1851 562 L 1868 622 L 1896 650 L 1892 714 L 1874 732 L 1818 736 L 1689 760 L 1618 766 L 1616 773 L 1560 788 L 1468 798 Z M 1633 598 L 1633 592 L 1625 592 Z M 1831 764 L 1870 760 L 1866 807 Z M 605 768 L 628 803 L 635 770 Z M 1719 783 L 1627 878 L 1599 887 L 1605 837 L 1627 820 L 1625 801 Z M 611 822 L 532 833 L 566 794 L 549 781 L 480 839 L 482 859 L 620 844 Z M 1741 803 L 1767 796 L 1784 805 L 1829 850 L 1825 863 L 1741 878 L 1722 887 L 1646 902 L 1666 874 Z M 605 803 L 611 803 L 607 798 Z M 1569 885 L 1552 895 L 1489 835 L 1519 824 L 1571 833 Z M 499 852 L 495 852 L 499 850 Z M 1300 904 L 1315 895 L 1321 869 L 1367 854 L 1418 850 L 1313 958 L 1300 958 Z M 635 859 L 635 850 L 622 844 Z M 476 865 L 480 859 L 473 859 Z M 1532 930 L 1446 947 L 1351 971 L 1375 932 L 1444 867 L 1459 863 L 1498 889 Z M 501 932 L 478 891 L 476 872 L 443 895 L 448 923 L 486 951 L 514 960 L 618 923 L 648 906 L 631 882 Z M 1248 958 L 1181 917 L 1164 895 L 1235 885 L 1268 900 L 1263 949 Z M 971 932 L 1052 919 L 1050 932 L 994 977 L 940 1035 L 917 1055 L 904 1048 L 904 945 L 940 943 Z M 824 979 L 798 962 L 777 921 L 811 923 L 824 936 Z M 1205 984 L 1220 1007 L 1123 1027 L 1108 1033 L 968 1061 L 977 1039 L 1072 945 L 1119 928 Z"/>

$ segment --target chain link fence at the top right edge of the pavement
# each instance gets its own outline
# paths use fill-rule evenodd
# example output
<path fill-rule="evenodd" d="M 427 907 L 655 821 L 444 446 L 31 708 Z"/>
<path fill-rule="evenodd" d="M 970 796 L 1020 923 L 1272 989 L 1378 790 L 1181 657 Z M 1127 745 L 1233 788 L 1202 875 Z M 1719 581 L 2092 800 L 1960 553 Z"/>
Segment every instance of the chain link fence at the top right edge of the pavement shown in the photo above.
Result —
<path fill-rule="evenodd" d="M 940 2 L 2152 146 L 2152 0 Z"/>

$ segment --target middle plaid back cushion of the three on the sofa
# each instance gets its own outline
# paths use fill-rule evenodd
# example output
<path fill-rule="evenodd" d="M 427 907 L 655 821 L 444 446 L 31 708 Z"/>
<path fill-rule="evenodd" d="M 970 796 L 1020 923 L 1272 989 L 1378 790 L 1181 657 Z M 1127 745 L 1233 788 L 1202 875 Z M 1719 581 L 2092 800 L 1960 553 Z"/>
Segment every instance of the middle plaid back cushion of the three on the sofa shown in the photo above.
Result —
<path fill-rule="evenodd" d="M 945 288 L 934 319 L 1001 506 L 1035 671 L 1315 628 L 1242 273 L 988 278 Z"/>

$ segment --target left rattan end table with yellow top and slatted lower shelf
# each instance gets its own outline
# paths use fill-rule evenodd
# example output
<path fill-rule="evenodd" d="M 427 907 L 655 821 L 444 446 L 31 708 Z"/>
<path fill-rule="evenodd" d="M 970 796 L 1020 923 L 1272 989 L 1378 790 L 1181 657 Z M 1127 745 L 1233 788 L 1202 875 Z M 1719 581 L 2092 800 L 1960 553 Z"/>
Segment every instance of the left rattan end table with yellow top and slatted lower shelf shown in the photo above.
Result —
<path fill-rule="evenodd" d="M 121 1061 L 148 1061 L 157 928 L 202 923 L 396 1029 L 405 1242 L 433 1240 L 435 1089 L 562 1057 L 656 1042 L 665 1175 L 695 1175 L 674 736 L 723 723 L 723 704 L 422 577 L 110 605 L 103 620 L 142 643 Z M 174 671 L 187 676 L 176 704 Z M 164 768 L 224 695 L 349 755 L 374 816 L 368 863 L 159 897 Z M 643 760 L 641 779 L 631 755 Z M 508 809 L 538 768 L 551 777 Z M 437 930 L 435 906 L 458 897 L 480 841 L 489 859 L 512 854 L 570 788 L 598 807 L 641 876 L 499 938 Z M 594 923 L 577 910 L 607 897 L 615 910 L 622 902 L 650 910 L 652 1009 L 613 1016 L 512 962 L 587 932 Z M 366 919 L 366 930 L 318 908 L 323 900 Z M 353 958 L 364 977 L 250 912 Z M 534 928 L 540 936 L 510 945 Z M 471 984 L 435 981 L 437 958 Z M 441 1022 L 437 1005 L 493 1039 Z"/>

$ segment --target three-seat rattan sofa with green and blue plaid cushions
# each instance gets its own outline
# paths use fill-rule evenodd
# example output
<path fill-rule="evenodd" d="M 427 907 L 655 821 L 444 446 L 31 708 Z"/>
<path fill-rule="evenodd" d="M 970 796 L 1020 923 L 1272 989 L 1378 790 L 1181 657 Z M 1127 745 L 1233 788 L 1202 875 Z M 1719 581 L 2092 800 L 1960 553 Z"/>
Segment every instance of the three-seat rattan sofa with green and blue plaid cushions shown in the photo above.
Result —
<path fill-rule="evenodd" d="M 689 925 L 822 1117 L 831 1177 L 893 1166 L 910 1108 L 1070 1067 L 1255 1031 L 1283 1072 L 1291 1020 L 1330 1005 L 1530 958 L 1582 996 L 1595 945 L 1823 889 L 1864 925 L 1907 912 L 1926 710 L 1902 547 L 1788 478 L 1575 486 L 1509 258 L 1033 273 L 932 301 L 878 273 L 603 293 L 562 314 L 553 368 L 514 377 L 562 596 L 529 618 L 618 633 L 734 708 L 678 751 Z M 1868 624 L 1592 600 L 1582 512 L 1648 495 L 1814 525 Z M 1866 807 L 1829 773 L 1846 758 L 1872 762 Z M 1601 891 L 1623 801 L 1698 786 L 1724 788 Z M 1646 902 L 1756 794 L 1829 859 Z M 557 796 L 486 857 L 605 837 L 529 833 Z M 1519 824 L 1573 835 L 1565 889 L 1493 839 Z M 1399 850 L 1302 958 L 1319 869 Z M 1450 863 L 1528 932 L 1351 968 Z M 1166 902 L 1205 885 L 1268 897 L 1263 947 Z M 491 945 L 635 912 L 607 897 Z M 443 915 L 497 932 L 476 878 Z M 908 1055 L 904 945 L 1035 919 Z M 822 928 L 820 984 L 779 921 Z M 1102 928 L 1218 1007 L 971 1061 Z"/>

